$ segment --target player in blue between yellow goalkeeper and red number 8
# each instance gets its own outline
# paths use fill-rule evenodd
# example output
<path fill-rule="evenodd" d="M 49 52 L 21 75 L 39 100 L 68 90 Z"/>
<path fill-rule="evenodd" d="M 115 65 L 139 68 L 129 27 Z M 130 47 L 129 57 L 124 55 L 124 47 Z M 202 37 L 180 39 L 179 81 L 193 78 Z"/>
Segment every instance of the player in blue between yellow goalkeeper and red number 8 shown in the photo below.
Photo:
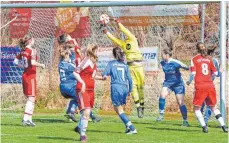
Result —
<path fill-rule="evenodd" d="M 183 126 L 189 126 L 187 120 L 187 108 L 184 104 L 185 86 L 180 73 L 180 68 L 189 70 L 189 67 L 182 62 L 171 58 L 171 56 L 172 52 L 169 49 L 163 50 L 163 61 L 161 61 L 161 66 L 165 73 L 165 80 L 163 82 L 163 87 L 159 98 L 160 116 L 156 121 L 162 121 L 164 119 L 165 98 L 171 91 L 174 91 L 183 117 Z"/>

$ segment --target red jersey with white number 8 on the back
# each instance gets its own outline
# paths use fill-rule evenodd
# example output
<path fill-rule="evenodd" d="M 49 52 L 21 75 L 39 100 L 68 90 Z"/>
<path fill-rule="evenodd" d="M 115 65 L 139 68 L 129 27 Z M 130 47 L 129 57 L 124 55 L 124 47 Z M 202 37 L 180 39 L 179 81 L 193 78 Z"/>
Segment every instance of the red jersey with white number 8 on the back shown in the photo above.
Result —
<path fill-rule="evenodd" d="M 196 55 L 191 60 L 191 72 L 195 74 L 195 88 L 214 88 L 212 74 L 217 72 L 212 58 Z"/>

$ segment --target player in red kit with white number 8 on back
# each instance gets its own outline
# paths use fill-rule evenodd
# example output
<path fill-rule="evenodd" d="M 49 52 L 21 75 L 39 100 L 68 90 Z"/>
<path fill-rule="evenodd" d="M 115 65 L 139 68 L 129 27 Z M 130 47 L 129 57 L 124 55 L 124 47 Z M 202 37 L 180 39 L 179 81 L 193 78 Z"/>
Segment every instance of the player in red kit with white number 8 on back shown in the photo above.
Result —
<path fill-rule="evenodd" d="M 213 64 L 212 58 L 208 56 L 208 49 L 205 47 L 204 43 L 197 43 L 196 48 L 199 54 L 191 60 L 191 72 L 195 75 L 195 96 L 193 99 L 195 115 L 203 127 L 203 132 L 207 133 L 208 128 L 200 111 L 202 104 L 206 101 L 207 106 L 211 107 L 223 131 L 228 132 L 220 111 L 215 107 L 217 99 L 212 75 L 218 75 L 217 70 Z"/>

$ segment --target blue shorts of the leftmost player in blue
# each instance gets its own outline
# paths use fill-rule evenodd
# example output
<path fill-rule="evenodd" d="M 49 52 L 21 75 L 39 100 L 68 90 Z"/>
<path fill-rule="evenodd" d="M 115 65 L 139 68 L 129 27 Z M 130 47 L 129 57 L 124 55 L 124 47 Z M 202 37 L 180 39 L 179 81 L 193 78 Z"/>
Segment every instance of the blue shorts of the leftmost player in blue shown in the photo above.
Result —
<path fill-rule="evenodd" d="M 76 83 L 61 83 L 60 92 L 65 98 L 76 99 Z"/>

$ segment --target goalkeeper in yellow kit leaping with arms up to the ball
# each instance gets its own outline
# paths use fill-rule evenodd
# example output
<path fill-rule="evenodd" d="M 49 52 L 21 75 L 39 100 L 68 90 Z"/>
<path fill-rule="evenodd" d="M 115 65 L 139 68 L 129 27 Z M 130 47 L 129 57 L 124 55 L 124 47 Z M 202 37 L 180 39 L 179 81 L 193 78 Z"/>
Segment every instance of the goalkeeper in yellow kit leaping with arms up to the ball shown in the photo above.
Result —
<path fill-rule="evenodd" d="M 142 64 L 142 54 L 138 47 L 137 38 L 125 28 L 119 20 L 110 18 L 111 21 L 117 23 L 121 32 L 126 35 L 125 40 L 114 37 L 110 32 L 106 30 L 106 27 L 103 26 L 103 32 L 107 35 L 109 39 L 116 45 L 118 45 L 126 55 L 127 64 L 131 73 L 133 80 L 133 90 L 132 96 L 134 103 L 137 107 L 137 113 L 139 118 L 144 116 L 144 69 Z"/>

